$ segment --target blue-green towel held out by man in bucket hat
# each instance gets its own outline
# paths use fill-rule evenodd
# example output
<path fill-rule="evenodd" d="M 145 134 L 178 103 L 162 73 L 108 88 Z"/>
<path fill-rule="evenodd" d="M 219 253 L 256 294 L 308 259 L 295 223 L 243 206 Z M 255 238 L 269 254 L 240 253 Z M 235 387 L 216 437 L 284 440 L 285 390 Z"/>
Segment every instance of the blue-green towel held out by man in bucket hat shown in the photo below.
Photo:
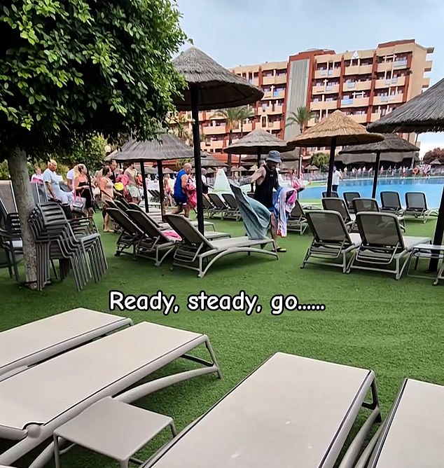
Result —
<path fill-rule="evenodd" d="M 244 195 L 240 186 L 230 183 L 230 188 L 235 195 L 248 238 L 251 240 L 267 238 L 270 230 L 270 210 L 257 200 Z"/>

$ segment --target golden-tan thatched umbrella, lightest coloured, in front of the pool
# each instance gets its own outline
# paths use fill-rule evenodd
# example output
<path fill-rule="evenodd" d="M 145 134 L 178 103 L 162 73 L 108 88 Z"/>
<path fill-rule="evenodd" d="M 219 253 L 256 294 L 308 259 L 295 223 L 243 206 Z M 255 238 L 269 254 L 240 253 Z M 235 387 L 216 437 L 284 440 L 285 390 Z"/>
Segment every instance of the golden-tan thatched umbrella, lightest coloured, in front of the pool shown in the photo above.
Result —
<path fill-rule="evenodd" d="M 327 182 L 327 196 L 329 197 L 331 195 L 331 183 L 333 181 L 336 146 L 375 143 L 383 139 L 384 137 L 382 135 L 367 132 L 363 125 L 357 123 L 341 111 L 334 111 L 323 121 L 293 138 L 288 145 L 293 147 L 330 146 Z"/>

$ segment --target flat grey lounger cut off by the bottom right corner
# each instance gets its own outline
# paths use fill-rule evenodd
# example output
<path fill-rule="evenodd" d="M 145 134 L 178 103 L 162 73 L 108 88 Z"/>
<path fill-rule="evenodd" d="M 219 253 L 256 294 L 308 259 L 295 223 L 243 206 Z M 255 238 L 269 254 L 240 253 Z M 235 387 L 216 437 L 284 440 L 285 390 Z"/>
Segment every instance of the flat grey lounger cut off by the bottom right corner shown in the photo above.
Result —
<path fill-rule="evenodd" d="M 405 379 L 356 468 L 443 467 L 444 386 Z"/>

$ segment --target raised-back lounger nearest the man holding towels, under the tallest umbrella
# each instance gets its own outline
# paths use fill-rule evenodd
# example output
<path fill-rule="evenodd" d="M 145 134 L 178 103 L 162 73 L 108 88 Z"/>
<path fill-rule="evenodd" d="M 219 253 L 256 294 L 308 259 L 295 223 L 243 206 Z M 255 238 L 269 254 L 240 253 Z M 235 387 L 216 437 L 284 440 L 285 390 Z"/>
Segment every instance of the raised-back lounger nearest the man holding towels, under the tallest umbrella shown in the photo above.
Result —
<path fill-rule="evenodd" d="M 183 216 L 167 214 L 165 218 L 182 238 L 181 244 L 177 245 L 174 252 L 173 266 L 196 270 L 200 278 L 204 277 L 216 260 L 228 254 L 256 252 L 278 258 L 275 242 L 270 238 L 251 240 L 244 236 L 208 240 Z M 272 246 L 271 251 L 265 249 L 268 244 Z M 206 262 L 208 263 L 205 264 Z"/>

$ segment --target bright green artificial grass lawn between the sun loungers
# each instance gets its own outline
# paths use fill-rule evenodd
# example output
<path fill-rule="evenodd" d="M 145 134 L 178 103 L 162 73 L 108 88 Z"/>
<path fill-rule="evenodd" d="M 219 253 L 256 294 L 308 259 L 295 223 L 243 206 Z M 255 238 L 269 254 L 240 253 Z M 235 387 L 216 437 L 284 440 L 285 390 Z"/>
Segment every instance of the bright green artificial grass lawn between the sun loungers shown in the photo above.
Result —
<path fill-rule="evenodd" d="M 214 222 L 216 230 L 228 231 L 233 236 L 244 235 L 242 222 Z M 102 226 L 99 215 L 97 225 Z M 407 221 L 407 235 L 433 238 L 434 228 L 435 221 L 426 225 Z M 383 418 L 403 378 L 444 384 L 444 289 L 443 284 L 433 286 L 432 279 L 403 276 L 395 281 L 393 275 L 359 270 L 343 275 L 340 268 L 310 265 L 301 270 L 300 263 L 312 239 L 309 232 L 303 236 L 289 233 L 279 242 L 288 249 L 287 253 L 279 254 L 279 261 L 268 256 L 227 256 L 216 262 L 202 279 L 192 270 L 170 271 L 168 259 L 155 268 L 144 259 L 115 257 L 116 239 L 115 234 L 102 234 L 109 272 L 102 283 L 92 282 L 80 293 L 76 292 L 71 277 L 36 292 L 20 289 L 9 279 L 7 269 L 0 270 L 0 330 L 76 307 L 108 311 L 110 289 L 137 295 L 151 295 L 158 290 L 168 296 L 175 294 L 176 303 L 181 306 L 177 314 L 165 317 L 161 312 L 114 313 L 132 317 L 134 322 L 147 320 L 209 336 L 223 372 L 222 380 L 214 375 L 195 378 L 138 402 L 145 408 L 172 415 L 178 429 L 207 411 L 277 351 L 373 369 Z M 241 290 L 249 295 L 258 294 L 263 312 L 247 317 L 244 312 L 187 310 L 188 295 L 202 290 L 219 296 Z M 296 295 L 300 303 L 325 304 L 326 310 L 285 311 L 280 316 L 272 316 L 268 304 L 275 294 Z M 189 366 L 188 362 L 178 362 L 165 372 Z M 151 449 L 162 441 L 165 439 L 151 444 Z M 149 453 L 150 448 L 142 452 L 144 456 Z M 111 460 L 81 448 L 63 455 L 62 465 L 66 468 L 116 466 Z M 25 464 L 22 461 L 15 466 Z"/>

